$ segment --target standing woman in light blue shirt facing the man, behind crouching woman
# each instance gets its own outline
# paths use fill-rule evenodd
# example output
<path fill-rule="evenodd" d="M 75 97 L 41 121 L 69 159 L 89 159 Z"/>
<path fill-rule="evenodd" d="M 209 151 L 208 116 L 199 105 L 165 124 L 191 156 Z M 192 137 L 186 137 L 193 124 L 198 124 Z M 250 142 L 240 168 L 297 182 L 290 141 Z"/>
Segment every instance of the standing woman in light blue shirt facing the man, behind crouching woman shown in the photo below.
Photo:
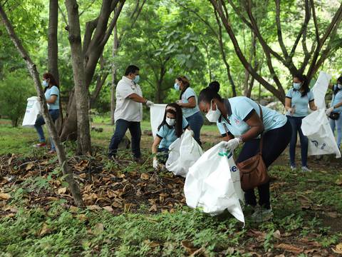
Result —
<path fill-rule="evenodd" d="M 187 119 L 194 138 L 200 144 L 199 133 L 203 126 L 203 117 L 197 106 L 197 96 L 194 89 L 190 87 L 190 81 L 185 76 L 180 76 L 175 79 L 175 89 L 180 91 L 180 100 L 177 104 L 182 107 L 183 116 Z"/>

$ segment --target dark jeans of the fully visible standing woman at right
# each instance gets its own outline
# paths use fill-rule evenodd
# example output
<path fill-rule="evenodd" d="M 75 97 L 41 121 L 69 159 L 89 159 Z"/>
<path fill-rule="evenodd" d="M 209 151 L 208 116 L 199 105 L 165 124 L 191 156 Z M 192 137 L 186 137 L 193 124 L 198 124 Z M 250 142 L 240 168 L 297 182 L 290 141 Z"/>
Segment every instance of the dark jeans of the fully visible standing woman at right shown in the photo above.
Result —
<path fill-rule="evenodd" d="M 291 166 L 296 166 L 296 143 L 297 143 L 297 132 L 299 133 L 299 139 L 301 141 L 301 166 L 308 165 L 308 138 L 304 136 L 301 131 L 301 120 L 305 117 L 293 117 L 287 116 L 287 119 L 290 121 L 292 128 L 292 136 L 290 142 L 290 162 Z"/>

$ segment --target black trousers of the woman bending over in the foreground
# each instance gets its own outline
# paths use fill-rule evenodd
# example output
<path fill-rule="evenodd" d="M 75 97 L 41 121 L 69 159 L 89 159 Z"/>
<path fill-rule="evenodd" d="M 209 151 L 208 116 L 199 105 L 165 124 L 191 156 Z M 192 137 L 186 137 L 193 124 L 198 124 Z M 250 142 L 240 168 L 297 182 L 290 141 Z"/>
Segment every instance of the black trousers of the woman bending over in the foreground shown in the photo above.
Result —
<path fill-rule="evenodd" d="M 271 163 L 276 161 L 281 153 L 285 150 L 286 146 L 289 145 L 291 141 L 291 124 L 289 121 L 278 129 L 272 129 L 264 133 L 264 143 L 262 146 L 262 158 L 264 163 L 268 168 Z M 247 160 L 259 152 L 260 139 L 253 139 L 244 143 L 242 151 L 237 158 L 237 163 Z M 259 205 L 264 208 L 271 208 L 271 203 L 269 201 L 269 182 L 258 186 L 259 191 Z M 251 206 L 257 205 L 257 198 L 254 194 L 254 189 L 246 191 L 244 193 L 244 198 L 246 203 Z"/>

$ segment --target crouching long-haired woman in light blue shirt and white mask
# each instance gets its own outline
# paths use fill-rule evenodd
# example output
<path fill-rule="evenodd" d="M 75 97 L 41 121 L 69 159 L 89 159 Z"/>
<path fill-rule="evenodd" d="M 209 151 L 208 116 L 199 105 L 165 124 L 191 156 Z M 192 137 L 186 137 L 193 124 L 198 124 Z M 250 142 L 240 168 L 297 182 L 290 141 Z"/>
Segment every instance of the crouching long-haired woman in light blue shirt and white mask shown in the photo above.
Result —
<path fill-rule="evenodd" d="M 164 119 L 162 119 L 162 123 L 158 127 L 157 136 L 155 136 L 152 144 L 152 153 L 155 155 L 153 157 L 153 168 L 157 169 L 160 163 L 166 163 L 169 146 L 182 136 L 185 129 L 190 130 L 187 120 L 182 115 L 180 106 L 167 104 Z"/>

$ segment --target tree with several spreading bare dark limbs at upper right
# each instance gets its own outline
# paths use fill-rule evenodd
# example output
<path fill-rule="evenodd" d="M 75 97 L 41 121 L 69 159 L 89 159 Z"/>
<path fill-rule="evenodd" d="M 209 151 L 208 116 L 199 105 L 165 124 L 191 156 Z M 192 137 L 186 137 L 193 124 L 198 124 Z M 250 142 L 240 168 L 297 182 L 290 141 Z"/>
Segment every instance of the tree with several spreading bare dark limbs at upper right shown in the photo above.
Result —
<path fill-rule="evenodd" d="M 281 2 L 280 0 L 274 0 L 274 6 L 276 10 L 276 35 L 281 49 L 281 53 L 279 53 L 277 51 L 274 51 L 274 47 L 272 47 L 266 41 L 263 34 L 261 33 L 260 23 L 258 24 L 257 19 L 255 18 L 255 16 L 257 15 L 255 6 L 259 5 L 255 4 L 255 1 L 209 1 L 219 14 L 222 24 L 224 25 L 224 29 L 227 31 L 227 34 L 232 41 L 234 51 L 239 57 L 239 60 L 243 64 L 244 68 L 247 69 L 247 71 L 249 71 L 249 74 L 251 74 L 251 76 L 262 86 L 271 91 L 271 93 L 274 94 L 274 96 L 276 96 L 283 104 L 285 99 L 285 91 L 279 80 L 279 74 L 276 73 L 276 69 L 274 68 L 274 61 L 279 61 L 279 63 L 281 63 L 284 67 L 286 67 L 286 69 L 289 70 L 290 74 L 296 74 L 297 72 L 303 73 L 307 70 L 306 74 L 308 78 L 311 79 L 312 76 L 314 76 L 316 71 L 319 69 L 319 67 L 331 54 L 331 51 L 333 50 L 332 43 L 334 39 L 336 39 L 336 31 L 342 20 L 342 4 L 340 4 L 336 13 L 333 15 L 333 19 L 331 19 L 330 24 L 328 24 L 325 29 L 319 29 L 314 0 L 305 0 L 305 16 L 301 29 L 299 29 L 299 32 L 294 37 L 294 43 L 291 46 L 286 46 L 283 39 L 283 32 L 281 30 Z M 228 2 L 228 4 L 226 4 L 226 2 Z M 260 6 L 258 8 L 260 8 Z M 262 8 L 264 8 L 264 6 L 262 6 Z M 237 39 L 237 34 L 233 29 L 232 22 L 230 21 L 232 12 L 237 15 L 239 19 L 244 23 L 244 25 L 247 26 L 257 37 L 257 40 L 266 58 L 266 64 L 269 69 L 269 74 L 271 75 L 271 78 L 273 79 L 275 85 L 271 84 L 270 81 L 264 79 L 264 77 L 257 72 L 257 69 L 255 69 L 255 67 L 253 67 L 252 64 L 247 60 L 247 56 L 242 51 L 242 48 Z M 311 21 L 311 17 L 313 17 L 314 34 L 316 35 L 316 38 L 311 44 L 311 50 L 308 50 L 308 34 L 311 32 L 308 31 L 308 24 L 309 21 Z M 290 34 L 294 33 L 292 32 Z M 301 42 L 304 51 L 304 59 L 301 64 L 296 65 L 294 56 L 296 54 L 296 49 L 300 40 L 302 40 Z M 310 61 L 311 64 L 309 65 Z"/>

